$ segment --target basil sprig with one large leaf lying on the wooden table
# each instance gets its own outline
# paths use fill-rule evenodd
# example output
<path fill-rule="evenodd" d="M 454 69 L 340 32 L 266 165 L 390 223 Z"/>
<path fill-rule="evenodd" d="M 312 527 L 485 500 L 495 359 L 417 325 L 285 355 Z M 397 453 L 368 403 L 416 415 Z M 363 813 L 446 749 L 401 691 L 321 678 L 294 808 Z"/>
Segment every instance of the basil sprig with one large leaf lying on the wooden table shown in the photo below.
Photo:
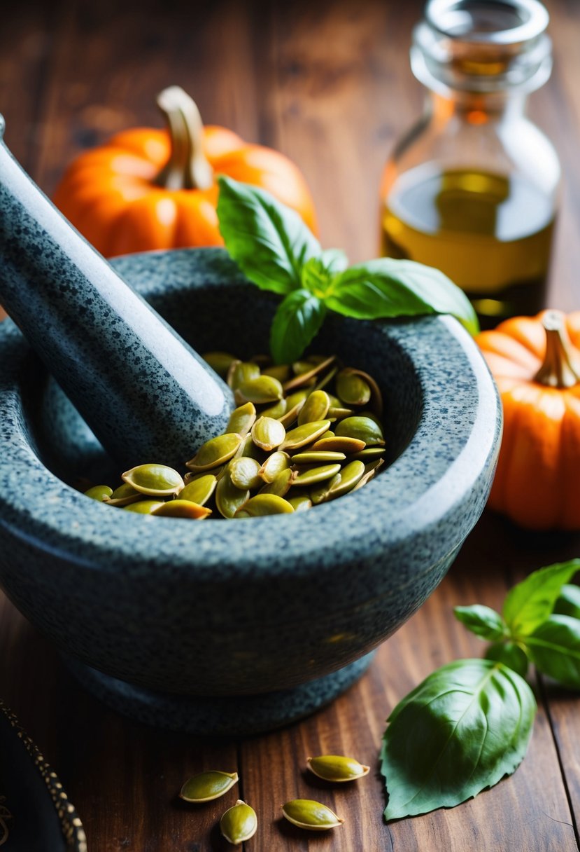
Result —
<path fill-rule="evenodd" d="M 450 808 L 515 771 L 532 735 L 536 701 L 523 679 L 538 671 L 580 688 L 580 589 L 573 559 L 514 586 L 502 613 L 475 604 L 457 618 L 492 642 L 486 659 L 443 665 L 395 707 L 381 751 L 387 820 Z"/>

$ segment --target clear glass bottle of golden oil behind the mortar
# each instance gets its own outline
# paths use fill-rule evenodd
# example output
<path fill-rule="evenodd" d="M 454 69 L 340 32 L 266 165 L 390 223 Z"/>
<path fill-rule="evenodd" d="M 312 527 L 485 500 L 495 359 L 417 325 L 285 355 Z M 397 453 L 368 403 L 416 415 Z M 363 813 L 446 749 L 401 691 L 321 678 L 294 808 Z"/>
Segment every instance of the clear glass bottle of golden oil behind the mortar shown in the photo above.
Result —
<path fill-rule="evenodd" d="M 549 78 L 538 0 L 430 0 L 411 65 L 423 118 L 384 169 L 382 253 L 441 269 L 482 327 L 543 308 L 560 164 L 526 117 Z"/>

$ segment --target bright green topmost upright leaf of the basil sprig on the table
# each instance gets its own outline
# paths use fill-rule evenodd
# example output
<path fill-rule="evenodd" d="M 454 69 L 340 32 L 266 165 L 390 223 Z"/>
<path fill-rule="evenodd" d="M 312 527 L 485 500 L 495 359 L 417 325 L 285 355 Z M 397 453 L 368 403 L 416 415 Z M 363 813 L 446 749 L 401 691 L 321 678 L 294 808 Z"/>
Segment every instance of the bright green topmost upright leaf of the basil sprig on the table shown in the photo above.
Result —
<path fill-rule="evenodd" d="M 503 619 L 514 636 L 532 633 L 554 609 L 562 586 L 580 570 L 580 559 L 534 571 L 514 586 L 503 602 Z"/>

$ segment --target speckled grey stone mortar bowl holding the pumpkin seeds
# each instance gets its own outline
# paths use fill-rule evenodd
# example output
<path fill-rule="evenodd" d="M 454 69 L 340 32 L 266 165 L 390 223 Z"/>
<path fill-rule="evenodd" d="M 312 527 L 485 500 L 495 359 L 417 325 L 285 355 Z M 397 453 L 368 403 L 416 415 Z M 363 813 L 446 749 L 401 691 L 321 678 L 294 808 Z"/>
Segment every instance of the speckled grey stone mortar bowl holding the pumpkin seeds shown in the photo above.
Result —
<path fill-rule="evenodd" d="M 198 352 L 264 350 L 276 297 L 238 283 L 223 250 L 116 267 Z M 483 509 L 498 395 L 475 343 L 447 317 L 329 316 L 315 351 L 378 379 L 389 468 L 304 515 L 161 519 L 65 484 L 88 475 L 115 485 L 115 465 L 4 322 L 0 583 L 20 610 L 79 662 L 189 696 L 291 689 L 383 642 L 440 582 Z M 310 691 L 316 705 L 316 682 Z"/>

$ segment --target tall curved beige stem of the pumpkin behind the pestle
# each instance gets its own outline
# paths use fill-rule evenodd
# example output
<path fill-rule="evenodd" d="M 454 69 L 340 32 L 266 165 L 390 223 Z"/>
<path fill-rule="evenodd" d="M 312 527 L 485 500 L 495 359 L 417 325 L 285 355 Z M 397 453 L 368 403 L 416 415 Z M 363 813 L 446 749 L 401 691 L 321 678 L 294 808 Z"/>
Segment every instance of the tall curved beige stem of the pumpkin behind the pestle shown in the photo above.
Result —
<path fill-rule="evenodd" d="M 209 189 L 213 169 L 203 153 L 202 117 L 195 101 L 180 86 L 157 95 L 157 106 L 168 123 L 171 156 L 154 183 L 165 189 Z"/>

